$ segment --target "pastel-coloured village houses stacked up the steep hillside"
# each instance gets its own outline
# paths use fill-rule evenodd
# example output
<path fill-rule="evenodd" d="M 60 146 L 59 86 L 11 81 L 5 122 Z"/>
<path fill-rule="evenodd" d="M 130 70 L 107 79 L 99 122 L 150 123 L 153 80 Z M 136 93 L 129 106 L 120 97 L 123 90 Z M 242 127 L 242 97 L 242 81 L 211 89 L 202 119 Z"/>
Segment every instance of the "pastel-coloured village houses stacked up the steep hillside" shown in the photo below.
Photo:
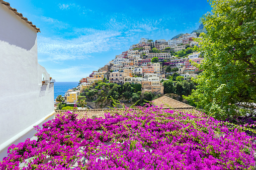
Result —
<path fill-rule="evenodd" d="M 68 90 L 65 93 L 65 103 L 75 103 L 80 92 L 102 80 L 109 80 L 110 83 L 124 84 L 141 84 L 142 94 L 152 92 L 163 94 L 164 87 L 162 82 L 168 80 L 165 78 L 164 66 L 178 68 L 177 73 L 187 80 L 188 77 L 197 77 L 198 68 L 192 65 L 192 61 L 200 64 L 203 58 L 200 52 L 193 52 L 186 57 L 177 57 L 172 54 L 185 50 L 186 45 L 199 47 L 196 33 L 184 34 L 179 38 L 172 40 L 152 40 L 142 38 L 138 44 L 130 46 L 130 49 L 117 55 L 104 67 L 98 71 L 93 71 L 89 77 L 82 78 L 79 86 Z M 152 49 L 156 48 L 157 53 Z M 167 48 L 167 49 L 166 49 Z M 200 48 L 200 47 L 199 47 Z M 172 53 L 173 52 L 173 53 Z M 151 62 L 157 57 L 158 62 Z M 173 74 L 170 72 L 168 74 Z"/>

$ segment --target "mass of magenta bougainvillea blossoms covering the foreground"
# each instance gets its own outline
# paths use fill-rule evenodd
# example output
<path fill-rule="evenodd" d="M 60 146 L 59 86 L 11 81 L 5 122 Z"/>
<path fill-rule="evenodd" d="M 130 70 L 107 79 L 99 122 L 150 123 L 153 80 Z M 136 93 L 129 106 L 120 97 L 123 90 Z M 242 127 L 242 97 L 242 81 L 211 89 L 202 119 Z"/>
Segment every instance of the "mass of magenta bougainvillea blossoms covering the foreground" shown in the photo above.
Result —
<path fill-rule="evenodd" d="M 0 169 L 253 169 L 254 137 L 205 114 L 148 106 L 65 112 L 9 148 Z"/>

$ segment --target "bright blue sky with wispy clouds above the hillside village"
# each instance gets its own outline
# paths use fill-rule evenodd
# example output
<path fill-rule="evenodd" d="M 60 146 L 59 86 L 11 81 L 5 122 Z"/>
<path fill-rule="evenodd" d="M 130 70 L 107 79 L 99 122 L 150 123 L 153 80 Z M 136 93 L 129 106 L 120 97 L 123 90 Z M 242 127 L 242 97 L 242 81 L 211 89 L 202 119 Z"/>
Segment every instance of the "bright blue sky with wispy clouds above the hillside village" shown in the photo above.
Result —
<path fill-rule="evenodd" d="M 140 38 L 191 33 L 211 11 L 207 1 L 6 0 L 33 22 L 38 63 L 56 81 L 79 81 Z"/>

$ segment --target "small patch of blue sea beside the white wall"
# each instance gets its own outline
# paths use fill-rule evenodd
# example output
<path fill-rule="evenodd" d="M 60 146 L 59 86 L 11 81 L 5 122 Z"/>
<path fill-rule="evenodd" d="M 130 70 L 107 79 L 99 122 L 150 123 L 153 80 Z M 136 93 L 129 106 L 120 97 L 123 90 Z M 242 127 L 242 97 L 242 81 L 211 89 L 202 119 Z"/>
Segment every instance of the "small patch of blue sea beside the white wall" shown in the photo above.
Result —
<path fill-rule="evenodd" d="M 73 87 L 77 87 L 79 82 L 55 82 L 54 83 L 54 99 L 58 95 L 64 97 L 65 92 Z"/>

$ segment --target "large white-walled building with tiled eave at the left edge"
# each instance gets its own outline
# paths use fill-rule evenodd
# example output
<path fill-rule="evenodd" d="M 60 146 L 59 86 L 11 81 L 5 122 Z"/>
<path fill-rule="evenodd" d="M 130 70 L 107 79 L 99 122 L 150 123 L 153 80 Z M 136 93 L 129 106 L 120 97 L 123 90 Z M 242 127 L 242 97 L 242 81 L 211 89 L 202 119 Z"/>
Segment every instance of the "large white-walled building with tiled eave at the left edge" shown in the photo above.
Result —
<path fill-rule="evenodd" d="M 0 160 L 54 118 L 53 80 L 37 62 L 40 29 L 16 11 L 0 0 Z"/>

